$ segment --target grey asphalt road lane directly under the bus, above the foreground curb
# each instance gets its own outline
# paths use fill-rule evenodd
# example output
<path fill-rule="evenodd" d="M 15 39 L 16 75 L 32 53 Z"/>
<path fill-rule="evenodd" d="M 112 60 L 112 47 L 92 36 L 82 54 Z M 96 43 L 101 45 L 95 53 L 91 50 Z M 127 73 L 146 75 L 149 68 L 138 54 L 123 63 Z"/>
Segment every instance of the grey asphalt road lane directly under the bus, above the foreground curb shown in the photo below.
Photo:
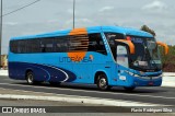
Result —
<path fill-rule="evenodd" d="M 98 91 L 96 85 L 68 83 L 63 83 L 59 86 L 51 86 L 48 83 L 43 83 L 39 85 L 28 85 L 26 81 L 11 80 L 8 77 L 0 77 L 0 88 L 55 94 L 122 100 L 161 105 L 175 105 L 175 88 L 165 86 L 137 88 L 132 92 L 126 92 L 122 88 L 113 88 L 110 91 Z"/>

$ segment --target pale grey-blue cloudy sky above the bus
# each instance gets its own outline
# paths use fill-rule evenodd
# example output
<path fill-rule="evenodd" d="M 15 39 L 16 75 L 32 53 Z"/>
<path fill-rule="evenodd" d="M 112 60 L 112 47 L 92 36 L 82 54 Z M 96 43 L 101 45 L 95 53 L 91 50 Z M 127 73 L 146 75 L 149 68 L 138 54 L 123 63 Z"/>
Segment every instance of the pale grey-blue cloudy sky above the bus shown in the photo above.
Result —
<path fill-rule="evenodd" d="M 3 14 L 35 0 L 3 0 Z M 72 28 L 73 0 L 40 0 L 3 16 L 2 54 L 9 39 Z M 175 0 L 75 0 L 75 27 L 118 25 L 140 28 L 148 25 L 156 39 L 175 45 Z"/>

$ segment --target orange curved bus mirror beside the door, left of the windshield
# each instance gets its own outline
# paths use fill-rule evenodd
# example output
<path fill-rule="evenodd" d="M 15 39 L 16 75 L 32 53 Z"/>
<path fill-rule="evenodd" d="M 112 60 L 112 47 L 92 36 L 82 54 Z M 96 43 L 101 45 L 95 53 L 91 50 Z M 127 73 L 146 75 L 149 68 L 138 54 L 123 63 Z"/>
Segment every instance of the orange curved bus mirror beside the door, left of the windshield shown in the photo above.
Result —
<path fill-rule="evenodd" d="M 135 45 L 132 44 L 131 40 L 126 40 L 126 39 L 115 39 L 115 40 L 126 44 L 129 47 L 130 54 L 135 54 Z"/>

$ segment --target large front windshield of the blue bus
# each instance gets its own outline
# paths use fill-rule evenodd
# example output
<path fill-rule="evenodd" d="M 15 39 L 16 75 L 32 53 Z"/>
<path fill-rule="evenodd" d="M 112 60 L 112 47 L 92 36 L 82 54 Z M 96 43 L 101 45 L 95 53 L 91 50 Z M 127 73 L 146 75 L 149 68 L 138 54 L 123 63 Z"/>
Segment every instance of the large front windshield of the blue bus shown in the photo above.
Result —
<path fill-rule="evenodd" d="M 141 71 L 159 71 L 162 68 L 155 38 L 128 36 L 133 43 L 136 54 L 130 55 L 130 68 Z"/>

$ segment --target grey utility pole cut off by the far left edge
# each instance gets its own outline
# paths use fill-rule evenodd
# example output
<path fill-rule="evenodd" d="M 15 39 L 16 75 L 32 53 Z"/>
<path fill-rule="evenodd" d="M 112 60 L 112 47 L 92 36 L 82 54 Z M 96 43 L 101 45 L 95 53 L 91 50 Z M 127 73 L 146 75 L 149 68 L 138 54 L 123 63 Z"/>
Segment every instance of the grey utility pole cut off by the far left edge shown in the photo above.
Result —
<path fill-rule="evenodd" d="M 2 0 L 1 0 L 1 21 L 0 21 L 0 68 L 1 68 L 1 47 L 2 47 Z"/>

